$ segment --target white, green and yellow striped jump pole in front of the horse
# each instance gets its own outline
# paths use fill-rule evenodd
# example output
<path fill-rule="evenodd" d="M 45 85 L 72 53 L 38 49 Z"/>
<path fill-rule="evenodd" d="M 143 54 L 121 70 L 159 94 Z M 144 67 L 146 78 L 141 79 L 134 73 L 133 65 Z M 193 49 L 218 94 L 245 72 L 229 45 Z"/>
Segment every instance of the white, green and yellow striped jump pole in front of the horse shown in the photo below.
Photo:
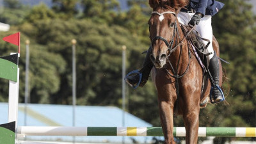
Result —
<path fill-rule="evenodd" d="M 161 127 L 18 127 L 23 136 L 163 136 Z M 173 136 L 186 136 L 174 127 Z M 256 127 L 199 127 L 198 136 L 256 137 Z"/>

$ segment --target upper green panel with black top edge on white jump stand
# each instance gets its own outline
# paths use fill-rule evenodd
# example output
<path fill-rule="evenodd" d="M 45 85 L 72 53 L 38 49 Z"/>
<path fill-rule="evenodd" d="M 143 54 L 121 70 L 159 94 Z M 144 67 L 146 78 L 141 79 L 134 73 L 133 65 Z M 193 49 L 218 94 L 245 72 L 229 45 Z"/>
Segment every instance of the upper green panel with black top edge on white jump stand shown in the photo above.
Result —
<path fill-rule="evenodd" d="M 18 54 L 0 57 L 0 77 L 17 82 Z"/>

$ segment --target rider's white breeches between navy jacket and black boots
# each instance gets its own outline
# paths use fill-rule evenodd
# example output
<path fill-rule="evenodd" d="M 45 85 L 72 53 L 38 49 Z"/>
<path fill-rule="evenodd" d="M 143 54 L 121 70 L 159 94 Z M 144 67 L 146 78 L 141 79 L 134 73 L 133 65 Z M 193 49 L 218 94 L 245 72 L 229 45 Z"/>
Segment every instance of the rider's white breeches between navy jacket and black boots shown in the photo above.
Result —
<path fill-rule="evenodd" d="M 179 12 L 178 20 L 181 24 L 188 26 L 188 22 L 190 19 L 195 15 L 195 13 L 186 13 L 186 12 Z M 198 31 L 202 38 L 210 40 L 211 44 L 208 46 L 208 51 L 212 52 L 209 55 L 210 59 L 213 56 L 213 48 L 212 48 L 212 17 L 211 15 L 204 15 L 204 17 L 200 20 L 199 24 L 195 26 L 195 30 Z M 208 42 L 204 41 L 206 45 Z"/>

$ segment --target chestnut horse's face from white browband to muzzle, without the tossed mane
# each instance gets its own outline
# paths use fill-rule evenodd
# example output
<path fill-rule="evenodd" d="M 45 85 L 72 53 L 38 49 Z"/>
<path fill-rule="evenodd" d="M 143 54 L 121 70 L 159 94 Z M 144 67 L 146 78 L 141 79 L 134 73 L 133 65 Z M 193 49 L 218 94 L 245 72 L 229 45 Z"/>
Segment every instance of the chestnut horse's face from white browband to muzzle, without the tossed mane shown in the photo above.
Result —
<path fill-rule="evenodd" d="M 173 31 L 176 27 L 175 15 L 175 12 L 157 8 L 148 20 L 152 47 L 150 60 L 156 68 L 163 68 L 168 56 L 168 49 L 172 47 L 172 39 L 175 35 Z"/>

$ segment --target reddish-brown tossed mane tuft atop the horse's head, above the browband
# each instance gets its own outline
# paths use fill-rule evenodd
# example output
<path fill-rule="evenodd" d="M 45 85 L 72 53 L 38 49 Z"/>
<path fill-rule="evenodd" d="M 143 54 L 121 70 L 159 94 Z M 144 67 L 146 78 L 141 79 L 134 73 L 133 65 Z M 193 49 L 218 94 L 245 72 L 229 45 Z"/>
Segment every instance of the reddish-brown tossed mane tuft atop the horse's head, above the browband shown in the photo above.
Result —
<path fill-rule="evenodd" d="M 179 8 L 183 8 L 184 6 L 188 5 L 189 0 L 149 0 L 148 4 L 151 8 L 157 8 L 159 6 L 170 6 L 171 8 L 174 8 L 175 10 Z"/>

